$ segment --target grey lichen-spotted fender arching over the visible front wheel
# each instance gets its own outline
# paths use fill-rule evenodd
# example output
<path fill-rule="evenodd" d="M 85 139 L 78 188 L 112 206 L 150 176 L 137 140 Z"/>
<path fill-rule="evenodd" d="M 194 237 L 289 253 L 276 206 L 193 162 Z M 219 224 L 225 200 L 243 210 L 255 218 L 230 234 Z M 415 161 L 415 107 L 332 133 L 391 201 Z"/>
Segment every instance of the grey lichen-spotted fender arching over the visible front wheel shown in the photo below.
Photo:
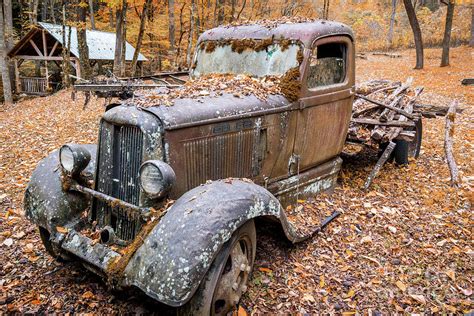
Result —
<path fill-rule="evenodd" d="M 129 261 L 124 282 L 160 302 L 181 306 L 232 233 L 259 216 L 278 219 L 293 242 L 305 238 L 296 234 L 278 200 L 256 184 L 232 179 L 196 187 L 153 228 Z"/>

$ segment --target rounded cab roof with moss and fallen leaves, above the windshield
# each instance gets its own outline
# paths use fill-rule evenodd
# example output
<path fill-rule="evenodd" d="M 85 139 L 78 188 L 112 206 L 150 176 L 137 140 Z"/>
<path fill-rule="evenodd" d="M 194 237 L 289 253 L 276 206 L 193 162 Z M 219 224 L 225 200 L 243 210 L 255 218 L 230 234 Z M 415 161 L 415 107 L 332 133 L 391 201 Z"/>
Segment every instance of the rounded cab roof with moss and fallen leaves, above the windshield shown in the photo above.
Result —
<path fill-rule="evenodd" d="M 299 40 L 309 47 L 314 40 L 330 35 L 347 35 L 353 39 L 351 28 L 340 22 L 327 20 L 298 23 L 265 22 L 219 26 L 204 32 L 200 36 L 199 42 L 225 39 L 267 39 L 274 37 L 275 39 Z"/>

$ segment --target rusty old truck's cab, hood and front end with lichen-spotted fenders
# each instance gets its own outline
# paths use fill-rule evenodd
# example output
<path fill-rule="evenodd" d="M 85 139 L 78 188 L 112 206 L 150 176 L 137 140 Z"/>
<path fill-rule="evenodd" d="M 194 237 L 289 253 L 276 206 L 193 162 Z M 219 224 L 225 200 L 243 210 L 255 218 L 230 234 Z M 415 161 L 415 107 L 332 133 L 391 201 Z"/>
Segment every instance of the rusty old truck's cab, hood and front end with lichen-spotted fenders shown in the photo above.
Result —
<path fill-rule="evenodd" d="M 247 289 L 257 219 L 280 223 L 292 242 L 311 235 L 285 208 L 336 184 L 354 38 L 337 22 L 257 23 L 208 30 L 196 47 L 190 81 L 291 80 L 264 97 L 225 85 L 166 105 L 109 106 L 97 145 L 66 144 L 39 162 L 25 210 L 55 258 L 180 313 L 217 315 Z"/>

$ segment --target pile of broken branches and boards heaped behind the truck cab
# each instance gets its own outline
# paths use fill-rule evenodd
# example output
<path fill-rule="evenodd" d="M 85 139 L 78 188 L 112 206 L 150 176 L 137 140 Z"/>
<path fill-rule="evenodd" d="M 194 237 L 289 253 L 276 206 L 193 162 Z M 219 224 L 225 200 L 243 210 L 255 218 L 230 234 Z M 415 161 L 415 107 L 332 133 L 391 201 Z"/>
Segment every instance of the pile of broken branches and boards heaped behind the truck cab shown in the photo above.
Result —
<path fill-rule="evenodd" d="M 415 123 L 421 118 L 417 106 L 423 88 L 412 88 L 413 78 L 406 82 L 372 80 L 356 88 L 349 141 L 367 145 L 388 143 L 394 139 L 412 141 Z"/>

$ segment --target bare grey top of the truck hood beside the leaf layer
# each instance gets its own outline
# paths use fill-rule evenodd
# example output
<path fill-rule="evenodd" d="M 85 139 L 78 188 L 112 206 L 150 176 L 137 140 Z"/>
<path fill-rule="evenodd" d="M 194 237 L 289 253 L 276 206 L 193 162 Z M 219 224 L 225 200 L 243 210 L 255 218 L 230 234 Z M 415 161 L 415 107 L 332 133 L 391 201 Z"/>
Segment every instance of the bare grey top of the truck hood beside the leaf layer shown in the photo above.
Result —
<path fill-rule="evenodd" d="M 234 118 L 253 116 L 256 112 L 280 112 L 292 104 L 282 95 L 270 95 L 260 100 L 255 95 L 219 96 L 175 99 L 172 106 L 153 106 L 144 110 L 158 116 L 165 129 L 178 129 Z M 272 111 L 273 110 L 273 111 Z"/>

